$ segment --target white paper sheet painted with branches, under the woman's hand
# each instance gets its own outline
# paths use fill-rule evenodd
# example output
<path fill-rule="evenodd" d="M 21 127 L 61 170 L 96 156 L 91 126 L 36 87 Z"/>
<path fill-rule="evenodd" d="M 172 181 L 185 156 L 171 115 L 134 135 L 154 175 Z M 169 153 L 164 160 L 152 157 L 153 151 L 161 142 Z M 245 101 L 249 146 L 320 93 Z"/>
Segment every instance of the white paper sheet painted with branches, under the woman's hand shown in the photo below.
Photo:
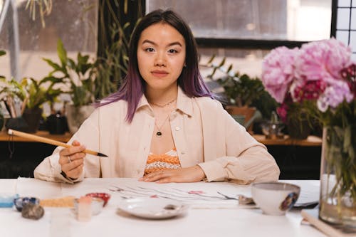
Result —
<path fill-rule="evenodd" d="M 157 197 L 184 201 L 194 208 L 239 208 L 239 195 L 251 196 L 250 186 L 228 182 L 156 184 L 137 179 L 85 179 L 75 185 L 62 184 L 62 191 L 64 196 L 107 192 L 114 204 L 121 199 Z"/>

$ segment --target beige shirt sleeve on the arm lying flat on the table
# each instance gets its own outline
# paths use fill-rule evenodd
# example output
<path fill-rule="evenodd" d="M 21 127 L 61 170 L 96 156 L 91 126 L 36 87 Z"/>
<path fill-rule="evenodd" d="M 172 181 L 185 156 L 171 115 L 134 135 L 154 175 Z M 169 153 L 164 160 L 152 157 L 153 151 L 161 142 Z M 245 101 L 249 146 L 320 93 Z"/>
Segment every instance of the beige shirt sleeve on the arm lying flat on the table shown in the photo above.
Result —
<path fill-rule="evenodd" d="M 202 116 L 204 126 L 204 163 L 199 164 L 206 174 L 207 181 L 231 180 L 238 184 L 256 181 L 277 181 L 280 170 L 266 146 L 254 139 L 246 129 L 224 110 L 220 103 Z M 209 110 L 208 110 L 209 111 Z M 215 121 L 211 121 L 211 115 Z M 219 121 L 219 122 L 216 122 Z M 211 137 L 216 139 L 211 139 Z M 211 149 L 214 147 L 214 150 Z M 211 157 L 215 154 L 215 157 Z"/>

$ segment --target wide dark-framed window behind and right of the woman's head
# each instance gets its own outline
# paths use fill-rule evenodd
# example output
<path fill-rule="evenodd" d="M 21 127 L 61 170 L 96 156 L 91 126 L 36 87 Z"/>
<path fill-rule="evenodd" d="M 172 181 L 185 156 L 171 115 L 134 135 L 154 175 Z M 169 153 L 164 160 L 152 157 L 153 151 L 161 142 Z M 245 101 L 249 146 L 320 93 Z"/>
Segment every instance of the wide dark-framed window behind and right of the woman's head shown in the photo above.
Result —
<path fill-rule="evenodd" d="M 271 48 L 330 38 L 331 6 L 332 0 L 147 0 L 146 12 L 177 11 L 197 38 L 201 61 L 215 54 L 259 76 Z"/>

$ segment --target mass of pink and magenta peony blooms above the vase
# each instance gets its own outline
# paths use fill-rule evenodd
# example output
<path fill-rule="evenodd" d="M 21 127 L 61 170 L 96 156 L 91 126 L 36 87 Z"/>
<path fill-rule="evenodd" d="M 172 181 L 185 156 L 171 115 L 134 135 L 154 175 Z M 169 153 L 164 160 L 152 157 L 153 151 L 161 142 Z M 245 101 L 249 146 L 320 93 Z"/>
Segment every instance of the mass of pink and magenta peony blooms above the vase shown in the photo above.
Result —
<path fill-rule="evenodd" d="M 263 60 L 262 82 L 281 103 L 281 120 L 298 120 L 303 110 L 327 125 L 354 121 L 356 64 L 351 55 L 335 38 L 271 51 Z"/>

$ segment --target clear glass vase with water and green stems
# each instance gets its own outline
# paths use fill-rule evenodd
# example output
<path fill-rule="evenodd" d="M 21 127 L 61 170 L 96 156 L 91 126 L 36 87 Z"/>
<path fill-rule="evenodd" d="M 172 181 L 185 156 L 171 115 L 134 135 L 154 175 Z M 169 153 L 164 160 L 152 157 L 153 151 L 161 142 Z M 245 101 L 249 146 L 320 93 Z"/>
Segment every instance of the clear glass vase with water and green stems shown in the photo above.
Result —
<path fill-rule="evenodd" d="M 356 228 L 356 125 L 323 129 L 319 217 Z"/>

